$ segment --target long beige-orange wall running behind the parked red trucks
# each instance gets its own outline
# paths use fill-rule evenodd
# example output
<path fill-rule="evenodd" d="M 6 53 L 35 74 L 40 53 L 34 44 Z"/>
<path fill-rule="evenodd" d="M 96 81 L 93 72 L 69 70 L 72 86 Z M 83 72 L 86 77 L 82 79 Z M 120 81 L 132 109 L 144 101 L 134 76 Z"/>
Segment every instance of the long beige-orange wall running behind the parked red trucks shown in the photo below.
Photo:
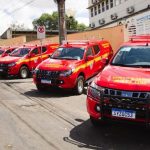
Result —
<path fill-rule="evenodd" d="M 114 51 L 116 51 L 119 46 L 124 42 L 124 26 L 116 26 L 107 29 L 95 29 L 91 31 L 85 31 L 80 33 L 74 33 L 67 35 L 67 40 L 90 40 L 90 39 L 101 39 L 104 38 L 108 40 Z M 43 44 L 46 43 L 58 43 L 59 38 L 51 37 L 43 40 Z M 22 42 L 22 43 L 21 43 Z M 25 37 L 19 37 L 10 40 L 0 40 L 0 45 L 17 45 L 23 44 L 25 42 Z M 40 44 L 39 40 L 28 42 L 27 44 Z"/>

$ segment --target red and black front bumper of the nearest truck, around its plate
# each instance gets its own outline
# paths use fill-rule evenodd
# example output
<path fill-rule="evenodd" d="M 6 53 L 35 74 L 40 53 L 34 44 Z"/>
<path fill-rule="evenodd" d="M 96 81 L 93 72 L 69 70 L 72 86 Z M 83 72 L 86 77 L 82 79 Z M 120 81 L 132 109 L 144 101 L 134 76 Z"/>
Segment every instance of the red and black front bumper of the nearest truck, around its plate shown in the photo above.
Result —
<path fill-rule="evenodd" d="M 100 110 L 96 109 L 97 106 Z M 114 109 L 135 112 L 135 118 L 116 117 L 112 115 Z M 88 95 L 87 110 L 95 119 L 150 124 L 150 99 L 148 97 L 126 98 L 104 93 L 98 100 Z"/>

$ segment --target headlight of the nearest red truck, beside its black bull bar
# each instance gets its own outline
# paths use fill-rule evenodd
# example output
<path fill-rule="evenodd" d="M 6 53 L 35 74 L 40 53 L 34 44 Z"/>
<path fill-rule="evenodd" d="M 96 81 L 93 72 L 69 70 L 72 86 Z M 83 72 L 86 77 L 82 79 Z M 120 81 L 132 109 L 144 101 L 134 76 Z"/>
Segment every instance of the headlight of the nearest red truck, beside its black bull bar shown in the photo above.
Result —
<path fill-rule="evenodd" d="M 104 92 L 104 88 L 95 84 L 94 81 L 88 87 L 88 96 L 94 98 L 94 100 L 100 100 L 101 93 L 103 92 Z"/>

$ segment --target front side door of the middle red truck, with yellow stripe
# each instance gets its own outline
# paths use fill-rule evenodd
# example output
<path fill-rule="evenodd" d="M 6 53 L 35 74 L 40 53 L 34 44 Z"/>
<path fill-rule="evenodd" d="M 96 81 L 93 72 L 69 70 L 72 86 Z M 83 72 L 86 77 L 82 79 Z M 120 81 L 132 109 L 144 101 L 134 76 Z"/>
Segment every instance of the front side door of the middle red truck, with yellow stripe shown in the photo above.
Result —
<path fill-rule="evenodd" d="M 90 78 L 94 74 L 94 53 L 93 47 L 89 47 L 85 54 L 85 74 L 87 78 Z"/>

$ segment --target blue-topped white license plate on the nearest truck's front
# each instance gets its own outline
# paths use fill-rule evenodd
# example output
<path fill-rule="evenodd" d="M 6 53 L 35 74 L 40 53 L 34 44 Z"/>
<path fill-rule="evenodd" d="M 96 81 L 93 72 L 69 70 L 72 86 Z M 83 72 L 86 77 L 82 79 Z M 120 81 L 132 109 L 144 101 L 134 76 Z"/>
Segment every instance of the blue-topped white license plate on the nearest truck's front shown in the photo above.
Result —
<path fill-rule="evenodd" d="M 124 109 L 113 108 L 112 116 L 119 117 L 119 118 L 135 119 L 136 112 L 133 110 L 124 110 Z"/>

